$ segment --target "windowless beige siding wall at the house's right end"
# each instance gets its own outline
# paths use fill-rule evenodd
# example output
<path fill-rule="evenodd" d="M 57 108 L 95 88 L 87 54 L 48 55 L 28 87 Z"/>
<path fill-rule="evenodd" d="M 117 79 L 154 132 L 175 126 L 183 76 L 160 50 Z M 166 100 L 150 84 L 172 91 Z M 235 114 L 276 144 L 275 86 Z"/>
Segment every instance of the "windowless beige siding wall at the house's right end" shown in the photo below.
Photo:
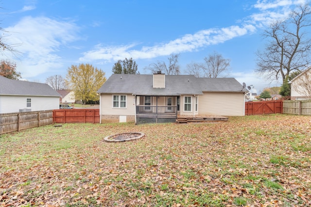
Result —
<path fill-rule="evenodd" d="M 199 97 L 199 115 L 244 116 L 243 93 L 204 93 Z"/>

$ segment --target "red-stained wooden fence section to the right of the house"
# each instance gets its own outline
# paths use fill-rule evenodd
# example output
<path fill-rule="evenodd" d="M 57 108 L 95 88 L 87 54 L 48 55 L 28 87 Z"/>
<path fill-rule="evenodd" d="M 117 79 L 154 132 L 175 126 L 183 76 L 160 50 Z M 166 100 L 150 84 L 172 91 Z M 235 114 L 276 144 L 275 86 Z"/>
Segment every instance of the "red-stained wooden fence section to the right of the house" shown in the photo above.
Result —
<path fill-rule="evenodd" d="M 245 115 L 283 113 L 283 101 L 245 102 Z"/>

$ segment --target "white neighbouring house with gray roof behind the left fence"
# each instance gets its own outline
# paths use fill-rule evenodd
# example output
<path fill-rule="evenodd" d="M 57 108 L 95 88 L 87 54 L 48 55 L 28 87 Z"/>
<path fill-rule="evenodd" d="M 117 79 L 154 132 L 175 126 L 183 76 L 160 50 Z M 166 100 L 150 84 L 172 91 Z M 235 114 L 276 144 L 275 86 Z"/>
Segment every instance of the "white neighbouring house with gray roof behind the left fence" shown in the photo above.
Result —
<path fill-rule="evenodd" d="M 47 84 L 0 76 L 0 114 L 59 109 L 59 97 Z"/>

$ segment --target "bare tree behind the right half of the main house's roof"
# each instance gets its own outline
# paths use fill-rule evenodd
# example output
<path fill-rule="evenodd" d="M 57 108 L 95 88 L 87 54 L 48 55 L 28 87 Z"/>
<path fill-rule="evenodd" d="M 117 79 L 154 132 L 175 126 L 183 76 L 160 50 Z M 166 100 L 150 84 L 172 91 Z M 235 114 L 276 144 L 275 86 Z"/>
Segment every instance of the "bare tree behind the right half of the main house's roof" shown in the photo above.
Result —
<path fill-rule="evenodd" d="M 227 76 L 230 67 L 230 59 L 225 59 L 223 55 L 213 52 L 204 58 L 204 63 L 190 63 L 187 65 L 188 72 L 196 77 L 217 78 Z M 224 74 L 225 73 L 225 74 Z"/>

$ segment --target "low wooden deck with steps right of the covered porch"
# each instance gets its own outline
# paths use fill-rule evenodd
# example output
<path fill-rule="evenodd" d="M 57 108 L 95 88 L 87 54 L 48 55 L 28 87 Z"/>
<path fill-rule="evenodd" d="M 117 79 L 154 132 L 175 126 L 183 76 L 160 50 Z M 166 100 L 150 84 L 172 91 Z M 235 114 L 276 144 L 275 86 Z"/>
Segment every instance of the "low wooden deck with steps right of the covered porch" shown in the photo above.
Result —
<path fill-rule="evenodd" d="M 223 116 L 195 116 L 195 117 L 187 117 L 187 116 L 177 116 L 176 123 L 193 123 L 193 122 L 226 122 L 228 121 L 227 117 Z"/>

